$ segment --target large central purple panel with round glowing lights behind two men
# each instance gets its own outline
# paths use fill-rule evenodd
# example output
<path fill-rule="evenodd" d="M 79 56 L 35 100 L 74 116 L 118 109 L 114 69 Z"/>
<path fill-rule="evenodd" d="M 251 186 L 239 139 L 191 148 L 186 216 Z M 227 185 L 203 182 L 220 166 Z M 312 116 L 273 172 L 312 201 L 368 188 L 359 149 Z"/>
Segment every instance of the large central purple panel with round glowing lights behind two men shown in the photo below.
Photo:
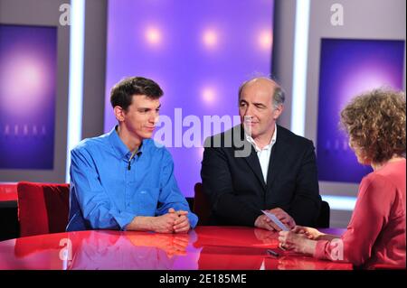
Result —
<path fill-rule="evenodd" d="M 180 189 L 193 196 L 208 135 L 204 116 L 237 116 L 241 82 L 270 74 L 273 1 L 109 1 L 108 21 L 104 130 L 117 124 L 109 103 L 115 83 L 128 76 L 156 80 L 165 93 L 160 121 L 167 116 L 172 125 L 172 139 L 164 144 L 173 155 Z M 182 108 L 179 122 L 175 108 Z M 178 135 L 185 135 L 188 120 L 196 119 L 201 127 L 194 136 L 201 147 L 186 147 Z M 210 135 L 219 132 L 213 128 Z"/>

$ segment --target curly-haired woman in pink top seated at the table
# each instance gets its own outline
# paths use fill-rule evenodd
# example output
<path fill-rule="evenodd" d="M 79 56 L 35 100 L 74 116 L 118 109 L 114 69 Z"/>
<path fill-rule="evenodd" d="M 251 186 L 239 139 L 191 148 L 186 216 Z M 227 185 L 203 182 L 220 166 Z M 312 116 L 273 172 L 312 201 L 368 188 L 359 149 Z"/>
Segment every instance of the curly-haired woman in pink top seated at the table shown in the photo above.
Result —
<path fill-rule="evenodd" d="M 405 94 L 378 89 L 355 98 L 341 123 L 357 161 L 374 172 L 359 186 L 355 210 L 342 237 L 315 228 L 279 232 L 279 245 L 319 259 L 365 269 L 406 266 Z"/>

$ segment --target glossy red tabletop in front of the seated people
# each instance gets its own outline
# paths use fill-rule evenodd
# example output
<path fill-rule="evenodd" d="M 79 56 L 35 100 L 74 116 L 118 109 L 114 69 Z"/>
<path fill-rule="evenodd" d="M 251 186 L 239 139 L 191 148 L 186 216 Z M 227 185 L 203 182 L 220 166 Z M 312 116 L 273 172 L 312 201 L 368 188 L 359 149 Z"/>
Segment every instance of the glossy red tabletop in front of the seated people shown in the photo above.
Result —
<path fill-rule="evenodd" d="M 277 237 L 243 227 L 197 227 L 184 235 L 99 230 L 22 237 L 0 242 L 0 269 L 352 269 L 282 251 Z M 279 257 L 268 255 L 269 248 Z"/>

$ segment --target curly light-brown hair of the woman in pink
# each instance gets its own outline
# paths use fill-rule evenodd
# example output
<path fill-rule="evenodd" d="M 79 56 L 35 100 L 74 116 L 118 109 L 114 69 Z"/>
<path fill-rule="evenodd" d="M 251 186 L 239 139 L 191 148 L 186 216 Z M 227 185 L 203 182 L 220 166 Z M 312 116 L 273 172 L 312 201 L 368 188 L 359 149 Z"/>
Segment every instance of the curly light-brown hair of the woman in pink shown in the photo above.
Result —
<path fill-rule="evenodd" d="M 373 163 L 405 157 L 405 93 L 374 89 L 354 98 L 341 111 L 341 125 L 351 145 Z"/>

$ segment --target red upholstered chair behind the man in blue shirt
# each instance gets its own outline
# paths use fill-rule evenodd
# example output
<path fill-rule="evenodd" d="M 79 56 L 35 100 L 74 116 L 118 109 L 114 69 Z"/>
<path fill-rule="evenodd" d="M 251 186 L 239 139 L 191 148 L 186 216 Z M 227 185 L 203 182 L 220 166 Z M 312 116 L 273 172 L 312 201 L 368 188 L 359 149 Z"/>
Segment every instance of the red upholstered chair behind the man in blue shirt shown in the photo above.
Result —
<path fill-rule="evenodd" d="M 20 237 L 64 232 L 68 224 L 69 184 L 19 182 Z"/>

